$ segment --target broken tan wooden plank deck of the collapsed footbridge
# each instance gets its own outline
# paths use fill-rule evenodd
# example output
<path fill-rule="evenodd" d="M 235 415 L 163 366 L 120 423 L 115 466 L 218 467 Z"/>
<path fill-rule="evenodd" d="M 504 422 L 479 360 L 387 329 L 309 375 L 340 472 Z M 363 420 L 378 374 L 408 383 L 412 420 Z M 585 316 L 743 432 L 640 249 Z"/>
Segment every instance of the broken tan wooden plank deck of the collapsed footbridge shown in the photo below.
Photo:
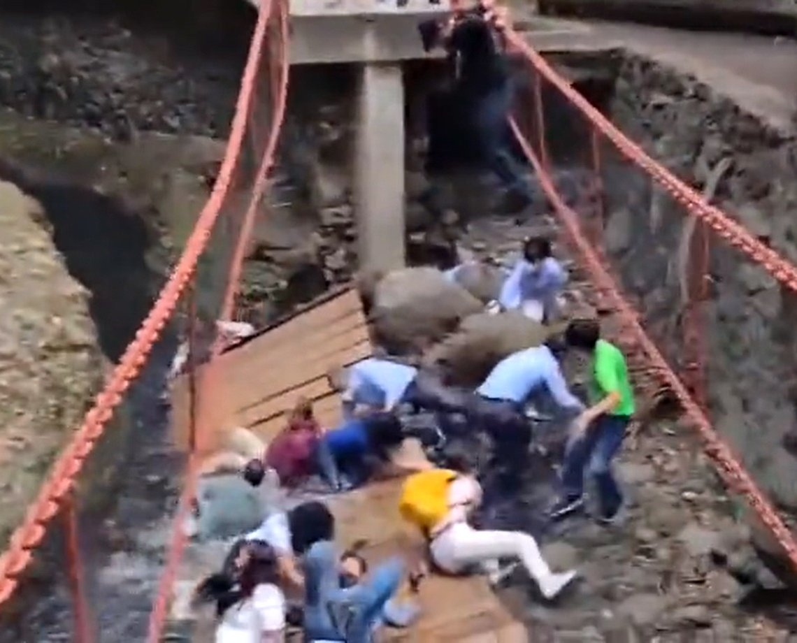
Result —
<path fill-rule="evenodd" d="M 328 369 L 371 353 L 367 321 L 353 290 L 328 298 L 222 355 L 212 403 L 219 426 L 244 425 L 266 440 L 285 423 L 296 398 L 316 403 L 322 426 L 340 421 L 340 399 L 329 387 Z M 175 383 L 175 430 L 187 435 L 188 383 Z M 338 540 L 347 547 L 365 539 L 371 564 L 401 554 L 406 542 L 398 516 L 400 480 L 385 480 L 335 496 Z M 423 618 L 411 629 L 387 629 L 384 641 L 423 643 L 525 643 L 522 623 L 499 602 L 481 578 L 432 576 L 422 583 Z"/>

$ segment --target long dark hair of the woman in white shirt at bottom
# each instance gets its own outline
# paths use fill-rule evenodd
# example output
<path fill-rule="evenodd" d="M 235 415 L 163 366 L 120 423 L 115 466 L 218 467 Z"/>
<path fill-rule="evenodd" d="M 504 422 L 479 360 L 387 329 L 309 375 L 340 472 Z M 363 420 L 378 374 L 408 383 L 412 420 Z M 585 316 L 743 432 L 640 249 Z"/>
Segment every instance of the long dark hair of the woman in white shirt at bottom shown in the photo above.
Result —
<path fill-rule="evenodd" d="M 241 570 L 234 574 L 229 570 L 210 574 L 194 591 L 195 604 L 215 602 L 216 615 L 221 616 L 236 603 L 249 598 L 258 585 L 277 585 L 280 581 L 277 555 L 269 543 L 262 540 L 241 543 L 237 547 L 238 554 L 244 548 L 248 557 Z"/>

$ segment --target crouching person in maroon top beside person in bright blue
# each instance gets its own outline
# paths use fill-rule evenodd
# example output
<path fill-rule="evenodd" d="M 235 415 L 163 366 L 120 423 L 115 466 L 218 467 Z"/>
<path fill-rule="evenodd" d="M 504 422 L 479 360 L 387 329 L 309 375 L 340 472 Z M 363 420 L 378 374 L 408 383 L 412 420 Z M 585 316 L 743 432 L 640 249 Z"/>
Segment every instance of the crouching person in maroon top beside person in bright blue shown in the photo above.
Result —
<path fill-rule="evenodd" d="M 296 487 L 319 469 L 321 427 L 312 403 L 300 398 L 288 418 L 288 425 L 273 438 L 265 450 L 265 463 L 277 472 L 284 487 Z"/>

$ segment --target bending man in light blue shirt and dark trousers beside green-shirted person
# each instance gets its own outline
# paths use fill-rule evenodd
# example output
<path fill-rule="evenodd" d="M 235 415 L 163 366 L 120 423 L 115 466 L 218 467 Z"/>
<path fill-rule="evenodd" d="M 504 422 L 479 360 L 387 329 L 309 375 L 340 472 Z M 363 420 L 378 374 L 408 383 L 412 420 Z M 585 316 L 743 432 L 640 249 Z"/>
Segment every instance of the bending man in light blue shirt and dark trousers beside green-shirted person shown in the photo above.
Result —
<path fill-rule="evenodd" d="M 583 410 L 547 344 L 508 355 L 476 390 L 470 418 L 493 439 L 497 489 L 514 487 L 526 469 L 532 427 L 525 405 L 532 394 L 545 390 L 567 414 Z"/>

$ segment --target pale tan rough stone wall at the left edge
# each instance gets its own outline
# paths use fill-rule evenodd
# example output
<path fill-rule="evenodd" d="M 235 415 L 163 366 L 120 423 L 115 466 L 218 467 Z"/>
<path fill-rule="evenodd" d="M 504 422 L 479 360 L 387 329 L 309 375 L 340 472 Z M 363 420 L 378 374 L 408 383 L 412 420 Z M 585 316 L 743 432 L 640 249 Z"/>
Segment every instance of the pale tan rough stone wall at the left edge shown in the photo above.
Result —
<path fill-rule="evenodd" d="M 102 381 L 88 292 L 41 205 L 0 182 L 0 548 Z"/>

